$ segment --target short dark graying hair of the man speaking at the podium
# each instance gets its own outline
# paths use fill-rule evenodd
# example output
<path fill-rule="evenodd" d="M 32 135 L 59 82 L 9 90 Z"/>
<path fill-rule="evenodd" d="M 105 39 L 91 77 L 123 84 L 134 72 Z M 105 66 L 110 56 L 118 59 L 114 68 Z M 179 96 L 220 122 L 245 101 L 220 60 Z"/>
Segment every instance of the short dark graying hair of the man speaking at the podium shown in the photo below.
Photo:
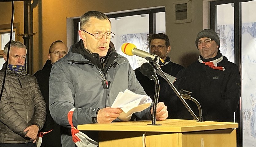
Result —
<path fill-rule="evenodd" d="M 88 24 L 91 17 L 95 17 L 99 20 L 108 20 L 111 24 L 111 21 L 104 13 L 101 13 L 99 11 L 88 11 L 80 18 L 80 30 L 83 30 L 83 27 Z"/>

